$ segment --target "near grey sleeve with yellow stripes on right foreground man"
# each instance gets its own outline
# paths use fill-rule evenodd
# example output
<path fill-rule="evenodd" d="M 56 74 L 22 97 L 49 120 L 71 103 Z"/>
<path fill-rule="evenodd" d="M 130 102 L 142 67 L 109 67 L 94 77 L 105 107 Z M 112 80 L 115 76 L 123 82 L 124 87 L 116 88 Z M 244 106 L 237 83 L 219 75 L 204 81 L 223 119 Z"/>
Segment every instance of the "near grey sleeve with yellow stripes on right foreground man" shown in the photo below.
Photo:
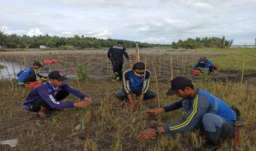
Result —
<path fill-rule="evenodd" d="M 165 125 L 165 133 L 178 133 L 193 129 L 207 112 L 209 106 L 209 101 L 205 102 L 205 100 L 199 99 L 197 94 L 185 117 L 175 123 Z"/>

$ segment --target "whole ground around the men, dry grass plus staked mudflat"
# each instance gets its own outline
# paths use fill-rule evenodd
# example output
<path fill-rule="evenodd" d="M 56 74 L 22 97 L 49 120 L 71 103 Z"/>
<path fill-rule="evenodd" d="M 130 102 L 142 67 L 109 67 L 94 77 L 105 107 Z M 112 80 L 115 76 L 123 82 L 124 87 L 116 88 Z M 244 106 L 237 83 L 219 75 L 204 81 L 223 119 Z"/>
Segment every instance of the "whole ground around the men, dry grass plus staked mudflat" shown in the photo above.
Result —
<path fill-rule="evenodd" d="M 133 62 L 134 50 L 128 50 Z M 0 53 L 1 64 L 6 64 L 10 77 L 14 72 L 30 67 L 33 61 L 44 59 L 58 60 L 58 63 L 45 65 L 40 73 L 46 74 L 58 69 L 74 78 L 71 67 L 77 66 L 77 61 L 85 63 L 90 70 L 92 79 L 88 82 L 79 80 L 81 90 L 93 100 L 91 107 L 86 109 L 72 108 L 52 112 L 51 120 L 41 120 L 34 113 L 28 112 L 21 106 L 28 89 L 12 89 L 9 81 L 0 81 L 0 141 L 19 138 L 16 148 L 0 146 L 0 150 L 195 150 L 201 148 L 204 138 L 197 132 L 186 132 L 177 135 L 161 135 L 156 141 L 139 142 L 139 131 L 157 123 L 160 126 L 181 119 L 185 114 L 182 109 L 171 113 L 161 114 L 156 119 L 149 119 L 145 111 L 157 108 L 157 98 L 144 103 L 144 107 L 136 112 L 129 111 L 127 103 L 121 103 L 115 98 L 119 85 L 111 82 L 113 74 L 110 62 L 106 59 L 107 50 L 80 50 L 80 51 L 19 51 Z M 157 49 L 142 50 L 140 58 L 147 59 L 147 68 L 151 71 L 150 89 L 156 91 L 154 68 L 159 81 L 160 106 L 176 101 L 176 96 L 166 96 L 171 77 L 170 58 L 173 59 L 173 73 L 182 75 L 182 66 L 185 66 L 183 75 L 196 81 L 204 80 L 189 74 L 192 65 L 200 56 L 208 58 L 218 57 L 216 54 L 198 54 L 196 50 Z M 186 61 L 185 61 L 186 60 Z M 186 63 L 185 63 L 186 62 Z M 128 68 L 128 61 L 124 62 L 124 69 Z M 2 78 L 9 77 L 6 69 L 2 69 Z M 199 88 L 211 90 L 214 95 L 224 98 L 228 104 L 236 104 L 242 113 L 245 126 L 241 131 L 241 150 L 253 150 L 255 147 L 255 87 L 248 85 L 230 84 L 241 81 L 241 71 L 218 71 L 211 78 L 226 83 L 196 83 Z M 256 71 L 244 73 L 243 82 L 256 85 Z M 68 83 L 78 89 L 76 80 Z M 221 93 L 220 93 L 221 90 Z M 103 95 L 94 95 L 103 94 Z M 70 95 L 65 101 L 78 101 Z M 76 128 L 80 125 L 80 128 Z M 193 138 L 193 139 L 190 139 Z M 232 150 L 233 140 L 222 141 L 220 150 Z"/>

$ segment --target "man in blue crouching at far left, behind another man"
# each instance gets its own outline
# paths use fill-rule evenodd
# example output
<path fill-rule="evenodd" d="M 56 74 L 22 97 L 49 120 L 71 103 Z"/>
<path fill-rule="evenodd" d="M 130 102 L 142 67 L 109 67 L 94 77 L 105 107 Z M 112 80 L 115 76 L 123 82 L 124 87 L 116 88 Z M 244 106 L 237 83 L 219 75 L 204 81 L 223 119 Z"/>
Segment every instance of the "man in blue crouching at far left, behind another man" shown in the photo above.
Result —
<path fill-rule="evenodd" d="M 18 84 L 19 85 L 24 85 L 27 82 L 35 82 L 35 81 L 41 81 L 44 80 L 47 77 L 43 77 L 40 75 L 37 70 L 43 67 L 40 62 L 34 62 L 32 64 L 32 67 L 25 69 L 24 71 L 20 71 L 17 76 L 18 76 Z"/>

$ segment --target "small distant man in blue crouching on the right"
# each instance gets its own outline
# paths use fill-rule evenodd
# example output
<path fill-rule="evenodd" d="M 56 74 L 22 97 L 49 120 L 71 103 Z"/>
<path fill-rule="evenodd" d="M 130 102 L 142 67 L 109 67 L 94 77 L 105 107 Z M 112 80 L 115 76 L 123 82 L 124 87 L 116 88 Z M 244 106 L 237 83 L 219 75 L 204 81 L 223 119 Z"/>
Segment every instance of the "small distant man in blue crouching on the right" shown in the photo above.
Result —
<path fill-rule="evenodd" d="M 209 68 L 209 72 L 213 72 L 217 70 L 217 66 L 213 64 L 210 60 L 206 59 L 206 57 L 200 57 L 197 64 L 194 65 L 194 69 L 200 68 Z"/>

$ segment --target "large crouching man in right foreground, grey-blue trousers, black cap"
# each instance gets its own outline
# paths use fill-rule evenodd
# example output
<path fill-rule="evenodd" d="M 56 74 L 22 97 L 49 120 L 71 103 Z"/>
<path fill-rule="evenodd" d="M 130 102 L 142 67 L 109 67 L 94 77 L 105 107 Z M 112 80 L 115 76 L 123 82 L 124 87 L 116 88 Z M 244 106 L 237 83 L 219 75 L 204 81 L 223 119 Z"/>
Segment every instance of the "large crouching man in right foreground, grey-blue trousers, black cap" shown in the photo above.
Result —
<path fill-rule="evenodd" d="M 161 133 L 179 133 L 200 127 L 204 130 L 206 149 L 215 150 L 221 138 L 233 138 L 236 115 L 224 101 L 201 89 L 195 89 L 189 79 L 176 77 L 170 82 L 166 95 L 182 99 L 167 106 L 147 111 L 157 115 L 184 108 L 187 114 L 179 121 L 155 129 L 146 129 L 138 135 L 140 141 L 149 140 Z"/>

